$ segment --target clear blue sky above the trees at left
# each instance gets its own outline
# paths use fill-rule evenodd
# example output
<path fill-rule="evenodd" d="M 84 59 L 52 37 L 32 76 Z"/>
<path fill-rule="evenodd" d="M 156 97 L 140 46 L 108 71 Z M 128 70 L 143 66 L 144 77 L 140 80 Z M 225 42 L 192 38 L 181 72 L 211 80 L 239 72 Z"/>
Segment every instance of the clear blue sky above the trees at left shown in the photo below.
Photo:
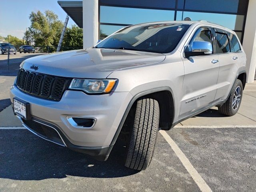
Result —
<path fill-rule="evenodd" d="M 29 14 L 38 10 L 52 10 L 62 22 L 66 19 L 66 12 L 57 0 L 0 0 L 0 36 L 10 34 L 22 39 L 26 27 L 30 26 Z M 74 24 L 69 18 L 68 26 Z"/>

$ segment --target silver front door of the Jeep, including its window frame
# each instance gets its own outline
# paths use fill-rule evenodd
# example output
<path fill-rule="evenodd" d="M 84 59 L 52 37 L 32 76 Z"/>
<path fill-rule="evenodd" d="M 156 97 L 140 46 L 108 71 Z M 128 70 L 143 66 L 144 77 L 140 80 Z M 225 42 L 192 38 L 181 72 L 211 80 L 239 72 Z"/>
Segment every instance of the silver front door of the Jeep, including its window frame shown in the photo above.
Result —
<path fill-rule="evenodd" d="M 200 27 L 190 39 L 186 49 L 191 49 L 194 41 L 207 41 L 213 46 L 212 54 L 184 58 L 183 98 L 181 100 L 180 118 L 214 102 L 217 91 L 219 57 L 215 50 L 215 41 L 210 27 Z"/>

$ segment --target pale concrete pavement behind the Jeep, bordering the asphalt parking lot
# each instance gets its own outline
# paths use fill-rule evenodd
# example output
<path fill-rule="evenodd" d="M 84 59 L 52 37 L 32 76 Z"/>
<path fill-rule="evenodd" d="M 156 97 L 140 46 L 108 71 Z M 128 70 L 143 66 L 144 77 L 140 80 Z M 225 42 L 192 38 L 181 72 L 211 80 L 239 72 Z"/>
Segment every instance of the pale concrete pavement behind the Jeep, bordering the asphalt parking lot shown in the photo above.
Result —
<path fill-rule="evenodd" d="M 184 120 L 177 126 L 216 126 L 216 125 L 256 125 L 256 81 L 246 84 L 243 92 L 242 103 L 238 113 L 232 117 L 218 113 L 218 108 L 213 107 L 197 116 Z M 0 112 L 0 127 L 22 126 L 9 106 Z"/>

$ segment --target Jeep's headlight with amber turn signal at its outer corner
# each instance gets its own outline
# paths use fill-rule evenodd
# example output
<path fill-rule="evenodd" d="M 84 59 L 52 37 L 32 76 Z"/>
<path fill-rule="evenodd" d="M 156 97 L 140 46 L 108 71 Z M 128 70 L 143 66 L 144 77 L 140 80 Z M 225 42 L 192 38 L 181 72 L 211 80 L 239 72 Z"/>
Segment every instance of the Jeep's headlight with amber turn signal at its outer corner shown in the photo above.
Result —
<path fill-rule="evenodd" d="M 110 93 L 116 79 L 73 79 L 69 89 L 82 90 L 89 94 Z"/>

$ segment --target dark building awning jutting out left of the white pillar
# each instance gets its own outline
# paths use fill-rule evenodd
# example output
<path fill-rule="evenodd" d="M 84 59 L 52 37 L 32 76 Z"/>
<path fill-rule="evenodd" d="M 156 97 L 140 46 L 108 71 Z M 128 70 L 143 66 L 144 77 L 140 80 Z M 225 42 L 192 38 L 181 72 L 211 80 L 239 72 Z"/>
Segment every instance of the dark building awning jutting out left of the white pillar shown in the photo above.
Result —
<path fill-rule="evenodd" d="M 58 1 L 58 4 L 78 27 L 83 28 L 83 1 Z"/>

